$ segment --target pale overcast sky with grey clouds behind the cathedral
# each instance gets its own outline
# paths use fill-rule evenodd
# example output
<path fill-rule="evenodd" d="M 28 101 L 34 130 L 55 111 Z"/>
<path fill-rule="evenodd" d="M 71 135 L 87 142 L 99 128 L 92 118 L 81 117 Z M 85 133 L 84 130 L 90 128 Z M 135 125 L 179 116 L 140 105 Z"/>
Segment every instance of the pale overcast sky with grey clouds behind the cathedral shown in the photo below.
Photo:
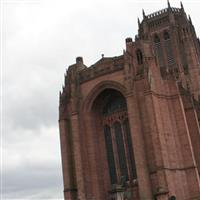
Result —
<path fill-rule="evenodd" d="M 200 36 L 199 0 L 183 0 Z M 171 0 L 173 7 L 180 2 Z M 58 93 L 68 65 L 120 55 L 165 0 L 1 0 L 3 199 L 63 199 Z"/>

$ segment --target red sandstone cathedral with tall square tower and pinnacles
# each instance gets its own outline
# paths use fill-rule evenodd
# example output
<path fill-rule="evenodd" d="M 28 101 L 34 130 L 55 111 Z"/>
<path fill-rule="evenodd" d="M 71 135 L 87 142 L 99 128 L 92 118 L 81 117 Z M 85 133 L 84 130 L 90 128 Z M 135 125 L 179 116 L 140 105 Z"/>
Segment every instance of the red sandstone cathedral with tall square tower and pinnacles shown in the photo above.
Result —
<path fill-rule="evenodd" d="M 138 19 L 122 55 L 69 66 L 65 200 L 200 200 L 200 41 L 183 4 Z"/>

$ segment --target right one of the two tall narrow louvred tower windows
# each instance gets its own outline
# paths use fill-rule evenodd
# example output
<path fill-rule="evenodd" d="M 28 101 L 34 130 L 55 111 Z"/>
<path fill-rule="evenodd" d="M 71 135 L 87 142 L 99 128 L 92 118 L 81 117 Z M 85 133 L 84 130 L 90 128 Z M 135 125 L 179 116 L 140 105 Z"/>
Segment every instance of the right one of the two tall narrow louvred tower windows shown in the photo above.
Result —
<path fill-rule="evenodd" d="M 173 56 L 173 50 L 171 46 L 170 35 L 167 31 L 164 32 L 164 47 L 165 47 L 165 52 L 167 55 L 168 65 L 171 66 L 174 64 L 174 56 Z"/>

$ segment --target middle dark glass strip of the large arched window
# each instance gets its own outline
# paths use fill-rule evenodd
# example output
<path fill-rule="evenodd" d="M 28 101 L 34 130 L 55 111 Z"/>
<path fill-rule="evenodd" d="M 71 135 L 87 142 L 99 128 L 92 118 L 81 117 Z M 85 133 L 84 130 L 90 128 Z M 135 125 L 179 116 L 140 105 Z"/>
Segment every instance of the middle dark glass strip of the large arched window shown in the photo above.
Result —
<path fill-rule="evenodd" d="M 126 165 L 126 156 L 125 156 L 125 149 L 124 149 L 124 142 L 122 136 L 122 129 L 119 122 L 114 123 L 114 130 L 115 130 L 115 138 L 117 143 L 117 153 L 119 156 L 119 166 L 121 177 L 125 177 L 128 180 L 128 169 Z"/>

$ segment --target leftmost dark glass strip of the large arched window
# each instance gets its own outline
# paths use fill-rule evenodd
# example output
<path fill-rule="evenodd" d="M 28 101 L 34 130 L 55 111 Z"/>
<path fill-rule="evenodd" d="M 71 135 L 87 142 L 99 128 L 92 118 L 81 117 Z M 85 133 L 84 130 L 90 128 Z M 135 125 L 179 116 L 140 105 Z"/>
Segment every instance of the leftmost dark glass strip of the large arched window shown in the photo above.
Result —
<path fill-rule="evenodd" d="M 115 159 L 113 153 L 112 138 L 109 126 L 104 126 L 104 136 L 106 142 L 106 152 L 108 159 L 108 167 L 110 172 L 110 182 L 115 184 L 117 182 L 116 168 L 115 168 Z"/>

